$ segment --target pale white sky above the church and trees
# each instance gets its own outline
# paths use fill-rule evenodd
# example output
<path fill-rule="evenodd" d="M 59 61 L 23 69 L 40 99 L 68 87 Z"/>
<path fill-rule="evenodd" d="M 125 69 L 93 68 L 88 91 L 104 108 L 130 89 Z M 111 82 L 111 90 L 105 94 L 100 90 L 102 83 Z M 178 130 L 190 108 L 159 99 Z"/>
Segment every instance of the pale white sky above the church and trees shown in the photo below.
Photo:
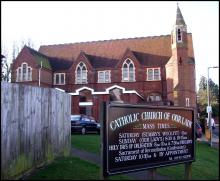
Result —
<path fill-rule="evenodd" d="M 192 33 L 196 85 L 219 66 L 219 2 L 178 1 Z M 160 36 L 171 33 L 175 1 L 1 1 L 1 51 L 28 39 L 40 45 Z M 209 69 L 219 85 L 219 68 Z"/>

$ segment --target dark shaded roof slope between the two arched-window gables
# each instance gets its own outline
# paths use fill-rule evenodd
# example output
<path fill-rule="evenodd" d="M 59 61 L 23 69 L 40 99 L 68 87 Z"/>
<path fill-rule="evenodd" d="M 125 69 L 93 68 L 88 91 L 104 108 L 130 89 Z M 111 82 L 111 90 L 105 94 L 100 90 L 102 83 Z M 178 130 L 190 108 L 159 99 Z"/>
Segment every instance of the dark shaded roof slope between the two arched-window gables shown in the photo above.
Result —
<path fill-rule="evenodd" d="M 85 54 L 93 68 L 114 68 L 118 63 L 118 59 L 111 59 L 101 56 Z"/>

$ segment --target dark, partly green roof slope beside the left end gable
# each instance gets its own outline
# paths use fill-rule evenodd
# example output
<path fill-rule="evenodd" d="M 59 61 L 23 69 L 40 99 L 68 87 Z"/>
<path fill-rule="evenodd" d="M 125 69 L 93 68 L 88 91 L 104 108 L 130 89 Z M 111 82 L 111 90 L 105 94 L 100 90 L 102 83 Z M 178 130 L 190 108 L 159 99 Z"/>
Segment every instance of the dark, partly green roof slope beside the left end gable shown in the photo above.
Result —
<path fill-rule="evenodd" d="M 29 52 L 34 56 L 36 62 L 38 63 L 39 66 L 41 66 L 42 62 L 42 67 L 51 71 L 59 71 L 59 70 L 66 70 L 69 69 L 70 66 L 72 65 L 73 62 L 61 59 L 61 58 L 56 58 L 56 57 L 48 57 L 30 47 L 27 47 Z"/>

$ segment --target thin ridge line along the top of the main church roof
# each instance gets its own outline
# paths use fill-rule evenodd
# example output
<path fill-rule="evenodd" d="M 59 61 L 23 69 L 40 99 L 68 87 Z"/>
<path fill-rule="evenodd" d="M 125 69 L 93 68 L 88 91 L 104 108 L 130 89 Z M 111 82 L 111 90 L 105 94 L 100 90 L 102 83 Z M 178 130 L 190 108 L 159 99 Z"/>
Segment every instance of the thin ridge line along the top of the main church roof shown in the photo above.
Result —
<path fill-rule="evenodd" d="M 41 45 L 42 46 L 60 46 L 60 45 L 75 45 L 75 44 L 82 44 L 82 43 L 98 43 L 98 42 L 106 42 L 106 41 L 121 41 L 121 40 L 133 40 L 133 39 L 141 39 L 141 38 L 162 38 L 166 36 L 171 36 L 170 34 L 167 35 L 159 35 L 159 36 L 142 36 L 142 37 L 133 37 L 133 38 L 117 38 L 117 39 L 108 39 L 108 40 L 94 40 L 94 41 L 85 41 L 85 42 L 75 42 L 75 43 L 61 43 L 61 44 L 51 44 L 51 45 Z"/>

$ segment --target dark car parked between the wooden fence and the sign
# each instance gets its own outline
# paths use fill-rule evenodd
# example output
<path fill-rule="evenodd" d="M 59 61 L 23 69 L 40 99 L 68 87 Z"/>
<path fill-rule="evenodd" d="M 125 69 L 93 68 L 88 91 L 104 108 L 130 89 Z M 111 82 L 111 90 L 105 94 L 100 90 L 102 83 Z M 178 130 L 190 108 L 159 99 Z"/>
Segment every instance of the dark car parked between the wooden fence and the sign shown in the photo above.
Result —
<path fill-rule="evenodd" d="M 100 124 L 90 116 L 71 115 L 71 133 L 74 132 L 79 132 L 81 134 L 89 132 L 100 133 Z"/>

